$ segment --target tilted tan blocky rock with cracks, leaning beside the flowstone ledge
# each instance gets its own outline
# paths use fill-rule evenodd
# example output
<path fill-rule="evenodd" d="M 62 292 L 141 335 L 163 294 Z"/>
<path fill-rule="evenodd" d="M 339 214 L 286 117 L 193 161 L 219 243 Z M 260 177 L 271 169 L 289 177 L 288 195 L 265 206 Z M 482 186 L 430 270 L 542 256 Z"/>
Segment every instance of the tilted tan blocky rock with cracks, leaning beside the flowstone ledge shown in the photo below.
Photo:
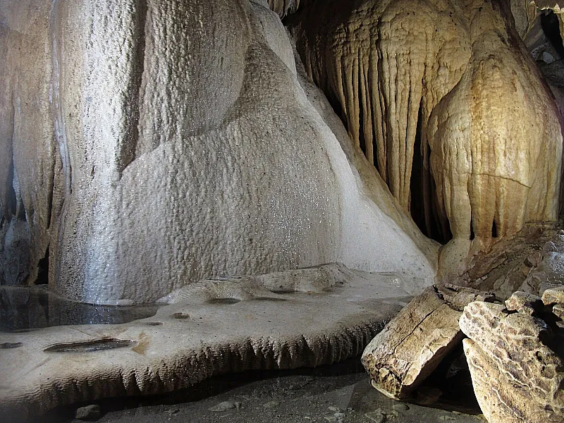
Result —
<path fill-rule="evenodd" d="M 494 295 L 458 286 L 431 286 L 386 325 L 362 354 L 372 386 L 396 399 L 412 391 L 462 340 L 458 318 L 469 302 Z"/>

